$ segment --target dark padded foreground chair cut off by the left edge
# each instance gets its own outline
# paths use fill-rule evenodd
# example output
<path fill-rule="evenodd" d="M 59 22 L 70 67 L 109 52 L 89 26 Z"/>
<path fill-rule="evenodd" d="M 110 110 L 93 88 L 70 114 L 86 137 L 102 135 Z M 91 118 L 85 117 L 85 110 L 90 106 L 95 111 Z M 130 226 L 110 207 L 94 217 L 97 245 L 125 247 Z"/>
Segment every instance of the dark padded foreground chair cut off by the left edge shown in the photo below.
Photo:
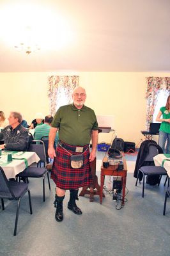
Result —
<path fill-rule="evenodd" d="M 20 200 L 21 200 L 22 196 L 24 196 L 26 194 L 26 192 L 28 193 L 28 196 L 29 196 L 30 214 L 33 214 L 32 205 L 31 205 L 31 195 L 30 195 L 30 191 L 27 187 L 28 186 L 25 183 L 20 183 L 17 181 L 8 181 L 6 179 L 6 175 L 4 174 L 3 168 L 1 168 L 1 166 L 0 166 L 0 198 L 1 198 L 3 210 L 4 210 L 4 199 L 18 201 L 13 236 L 16 236 L 16 234 L 17 234 L 17 224 L 18 224 L 18 220 L 19 220 Z"/>

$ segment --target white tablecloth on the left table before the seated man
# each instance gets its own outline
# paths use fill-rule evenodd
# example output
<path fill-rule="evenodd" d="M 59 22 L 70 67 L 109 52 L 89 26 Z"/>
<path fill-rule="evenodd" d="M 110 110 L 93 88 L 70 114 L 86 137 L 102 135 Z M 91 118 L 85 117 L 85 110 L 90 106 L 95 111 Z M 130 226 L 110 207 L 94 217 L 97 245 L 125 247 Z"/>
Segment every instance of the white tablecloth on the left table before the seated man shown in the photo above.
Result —
<path fill-rule="evenodd" d="M 27 165 L 32 163 L 38 163 L 40 157 L 35 152 L 17 152 L 12 153 L 13 158 L 24 158 L 24 159 L 13 159 L 12 162 L 7 162 L 7 155 L 10 153 L 3 152 L 0 158 L 0 166 L 3 168 L 7 179 L 15 178 L 17 174 L 26 169 L 26 163 L 24 159 L 27 159 Z M 19 155 L 20 154 L 20 155 Z"/>

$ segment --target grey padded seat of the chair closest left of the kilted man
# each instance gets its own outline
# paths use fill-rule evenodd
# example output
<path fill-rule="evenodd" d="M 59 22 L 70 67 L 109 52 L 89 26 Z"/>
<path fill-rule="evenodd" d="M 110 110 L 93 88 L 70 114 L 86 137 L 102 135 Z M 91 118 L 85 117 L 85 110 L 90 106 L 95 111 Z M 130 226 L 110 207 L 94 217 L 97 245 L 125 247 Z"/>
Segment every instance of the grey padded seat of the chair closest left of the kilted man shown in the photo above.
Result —
<path fill-rule="evenodd" d="M 20 178 L 41 178 L 47 173 L 47 169 L 43 167 L 27 167 L 23 172 L 20 172 Z"/>

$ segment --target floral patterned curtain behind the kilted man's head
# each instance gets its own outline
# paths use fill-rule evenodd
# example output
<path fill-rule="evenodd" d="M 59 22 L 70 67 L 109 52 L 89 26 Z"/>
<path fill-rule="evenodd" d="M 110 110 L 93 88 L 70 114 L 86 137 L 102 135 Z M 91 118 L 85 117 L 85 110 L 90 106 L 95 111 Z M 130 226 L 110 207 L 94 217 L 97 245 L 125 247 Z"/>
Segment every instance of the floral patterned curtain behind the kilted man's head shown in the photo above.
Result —
<path fill-rule="evenodd" d="M 48 96 L 50 100 L 50 115 L 56 113 L 56 102 L 60 97 L 61 88 L 65 91 L 68 103 L 72 100 L 72 91 L 79 86 L 79 76 L 49 76 Z"/>

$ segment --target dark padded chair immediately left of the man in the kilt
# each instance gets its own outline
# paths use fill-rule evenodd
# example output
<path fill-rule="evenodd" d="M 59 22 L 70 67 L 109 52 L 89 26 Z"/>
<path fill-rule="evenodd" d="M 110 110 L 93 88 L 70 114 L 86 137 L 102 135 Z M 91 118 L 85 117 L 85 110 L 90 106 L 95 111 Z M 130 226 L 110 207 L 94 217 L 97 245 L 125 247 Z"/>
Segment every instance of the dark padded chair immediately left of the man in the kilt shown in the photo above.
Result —
<path fill-rule="evenodd" d="M 39 143 L 39 144 L 33 144 Z M 43 141 L 40 140 L 33 140 L 31 145 L 29 145 L 28 151 L 35 152 L 38 157 L 40 157 L 40 161 L 37 164 L 37 167 L 27 167 L 23 172 L 20 172 L 17 177 L 19 179 L 27 180 L 28 178 L 43 178 L 43 202 L 45 202 L 45 175 L 47 174 L 48 182 L 49 182 L 49 189 L 50 189 L 50 179 L 49 179 L 49 172 L 45 168 L 46 156 L 45 156 L 45 147 Z M 40 164 L 43 163 L 43 167 Z"/>

